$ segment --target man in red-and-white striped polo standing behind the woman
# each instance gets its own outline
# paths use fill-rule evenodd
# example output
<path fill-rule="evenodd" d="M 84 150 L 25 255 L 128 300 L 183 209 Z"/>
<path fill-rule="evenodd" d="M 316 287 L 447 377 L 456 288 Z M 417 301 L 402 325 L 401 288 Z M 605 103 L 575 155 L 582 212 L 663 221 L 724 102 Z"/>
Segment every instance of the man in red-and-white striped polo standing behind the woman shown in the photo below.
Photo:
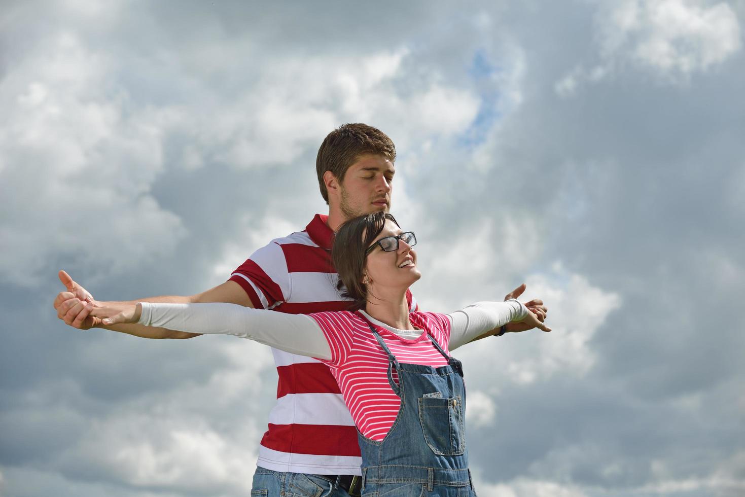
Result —
<path fill-rule="evenodd" d="M 329 214 L 316 215 L 302 232 L 277 238 L 256 250 L 228 281 L 191 297 L 153 297 L 145 302 L 236 303 L 292 314 L 345 309 L 337 292 L 338 276 L 329 250 L 334 232 L 344 221 L 369 212 L 390 209 L 396 169 L 396 148 L 388 136 L 367 124 L 345 124 L 323 140 L 316 171 Z M 192 338 L 194 333 L 129 324 L 102 326 L 90 317 L 97 303 L 64 271 L 67 291 L 54 300 L 57 315 L 79 329 L 101 327 L 143 338 Z M 524 285 L 507 298 L 518 297 Z M 407 294 L 411 310 L 416 302 Z M 526 303 L 539 319 L 545 307 L 539 300 Z M 510 325 L 509 331 L 522 331 Z M 253 490 L 265 495 L 355 495 L 360 475 L 357 431 L 329 369 L 311 358 L 273 349 L 279 374 L 277 403 L 261 440 Z M 352 487 L 352 491 L 349 489 Z M 261 494 L 264 495 L 264 494 Z M 327 495 L 327 494 L 324 494 Z"/>

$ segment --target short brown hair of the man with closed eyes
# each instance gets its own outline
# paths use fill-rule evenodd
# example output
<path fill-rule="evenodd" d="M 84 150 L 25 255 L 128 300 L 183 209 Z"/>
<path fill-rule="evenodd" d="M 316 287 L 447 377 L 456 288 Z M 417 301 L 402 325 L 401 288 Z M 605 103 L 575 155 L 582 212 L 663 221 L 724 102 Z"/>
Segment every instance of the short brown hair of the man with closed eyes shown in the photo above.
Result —
<path fill-rule="evenodd" d="M 316 173 L 323 200 L 329 203 L 329 191 L 323 182 L 323 173 L 331 171 L 340 182 L 349 166 L 364 155 L 382 155 L 390 162 L 396 161 L 396 145 L 378 128 L 367 124 L 342 124 L 329 133 L 318 149 Z"/>

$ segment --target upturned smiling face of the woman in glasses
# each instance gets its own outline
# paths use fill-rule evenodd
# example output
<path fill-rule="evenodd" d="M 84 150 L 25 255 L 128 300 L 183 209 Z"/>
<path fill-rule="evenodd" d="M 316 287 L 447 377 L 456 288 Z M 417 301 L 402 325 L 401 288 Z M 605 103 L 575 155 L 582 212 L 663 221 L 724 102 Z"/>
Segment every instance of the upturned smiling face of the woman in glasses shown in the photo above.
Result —
<path fill-rule="evenodd" d="M 375 288 L 408 288 L 422 277 L 422 273 L 416 267 L 416 252 L 405 241 L 399 239 L 398 250 L 390 252 L 383 250 L 380 244 L 375 244 L 381 238 L 401 235 L 401 233 L 402 229 L 389 219 L 385 221 L 383 231 L 375 237 L 373 244 L 370 244 L 370 247 L 375 248 L 367 254 L 365 260 L 364 273 L 370 280 L 368 288 L 371 288 L 371 285 Z"/>

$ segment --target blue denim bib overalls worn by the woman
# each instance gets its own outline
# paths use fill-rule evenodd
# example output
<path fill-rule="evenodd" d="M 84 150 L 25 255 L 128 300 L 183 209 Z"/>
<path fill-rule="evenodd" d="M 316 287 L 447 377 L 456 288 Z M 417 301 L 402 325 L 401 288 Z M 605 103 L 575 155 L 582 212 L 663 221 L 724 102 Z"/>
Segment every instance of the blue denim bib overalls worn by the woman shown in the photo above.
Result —
<path fill-rule="evenodd" d="M 401 397 L 401 408 L 381 442 L 358 432 L 362 496 L 475 497 L 463 429 L 466 388 L 460 361 L 449 357 L 430 335 L 432 344 L 448 360 L 447 366 L 399 363 L 367 324 L 388 355 L 388 383 Z M 399 384 L 393 382 L 393 368 Z"/>

